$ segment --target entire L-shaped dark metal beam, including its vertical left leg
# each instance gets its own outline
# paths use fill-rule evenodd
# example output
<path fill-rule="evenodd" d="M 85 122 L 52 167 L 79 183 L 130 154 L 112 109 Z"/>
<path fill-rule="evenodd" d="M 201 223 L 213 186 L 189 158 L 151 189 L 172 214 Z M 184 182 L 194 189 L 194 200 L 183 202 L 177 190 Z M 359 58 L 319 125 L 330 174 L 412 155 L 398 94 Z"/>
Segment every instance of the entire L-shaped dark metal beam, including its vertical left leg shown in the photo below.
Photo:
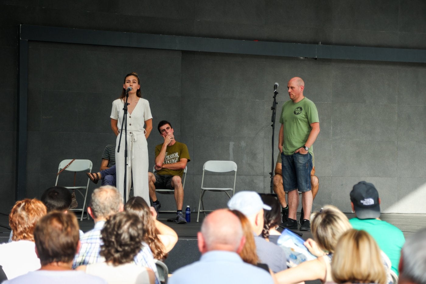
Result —
<path fill-rule="evenodd" d="M 15 197 L 25 197 L 27 151 L 28 41 L 79 43 L 198 52 L 426 63 L 424 49 L 337 46 L 306 43 L 244 41 L 178 35 L 153 35 L 48 26 L 20 25 L 18 123 Z"/>

